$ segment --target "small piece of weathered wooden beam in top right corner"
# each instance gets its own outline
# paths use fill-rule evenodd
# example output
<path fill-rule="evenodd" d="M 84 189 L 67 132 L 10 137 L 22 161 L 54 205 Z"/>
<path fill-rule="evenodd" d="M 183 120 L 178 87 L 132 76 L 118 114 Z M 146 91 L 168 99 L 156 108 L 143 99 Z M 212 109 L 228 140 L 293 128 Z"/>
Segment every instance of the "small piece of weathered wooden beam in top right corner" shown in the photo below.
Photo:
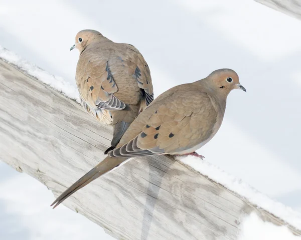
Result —
<path fill-rule="evenodd" d="M 255 0 L 269 8 L 301 20 L 300 0 Z"/>

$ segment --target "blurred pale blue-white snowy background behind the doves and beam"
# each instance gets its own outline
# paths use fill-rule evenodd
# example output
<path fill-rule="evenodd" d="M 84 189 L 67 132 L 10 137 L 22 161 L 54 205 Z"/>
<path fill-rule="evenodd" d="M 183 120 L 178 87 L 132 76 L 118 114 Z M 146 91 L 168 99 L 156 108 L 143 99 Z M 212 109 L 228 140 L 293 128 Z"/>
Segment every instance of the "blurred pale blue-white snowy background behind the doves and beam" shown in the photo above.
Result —
<path fill-rule="evenodd" d="M 78 52 L 69 49 L 82 29 L 134 45 L 150 67 L 156 96 L 215 69 L 234 69 L 247 93 L 231 92 L 220 131 L 198 152 L 301 209 L 300 21 L 251 0 L 0 0 L 0 45 L 73 84 Z M 4 164 L 0 173 L 5 239 L 66 239 L 72 233 L 77 240 L 102 232 L 64 207 L 51 211 L 54 197 L 36 180 Z"/>

